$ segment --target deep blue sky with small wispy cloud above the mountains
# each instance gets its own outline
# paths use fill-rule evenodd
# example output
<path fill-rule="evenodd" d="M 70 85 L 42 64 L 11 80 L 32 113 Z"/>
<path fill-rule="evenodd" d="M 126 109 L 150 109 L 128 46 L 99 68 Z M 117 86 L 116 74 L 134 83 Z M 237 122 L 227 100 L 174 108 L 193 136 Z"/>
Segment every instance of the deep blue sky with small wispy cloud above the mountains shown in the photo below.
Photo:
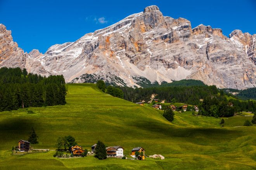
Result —
<path fill-rule="evenodd" d="M 0 23 L 24 51 L 45 53 L 149 5 L 157 5 L 164 16 L 190 20 L 192 27 L 210 25 L 226 36 L 234 29 L 256 34 L 256 0 L 0 0 Z"/>

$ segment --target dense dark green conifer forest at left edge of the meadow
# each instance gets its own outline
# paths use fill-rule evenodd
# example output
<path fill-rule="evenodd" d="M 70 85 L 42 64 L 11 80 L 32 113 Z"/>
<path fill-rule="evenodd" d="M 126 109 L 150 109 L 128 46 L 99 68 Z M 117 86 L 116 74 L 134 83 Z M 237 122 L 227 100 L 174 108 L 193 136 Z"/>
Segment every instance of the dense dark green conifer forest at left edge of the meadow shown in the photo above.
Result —
<path fill-rule="evenodd" d="M 21 68 L 0 68 L 0 111 L 24 107 L 64 105 L 62 75 L 43 77 Z"/>

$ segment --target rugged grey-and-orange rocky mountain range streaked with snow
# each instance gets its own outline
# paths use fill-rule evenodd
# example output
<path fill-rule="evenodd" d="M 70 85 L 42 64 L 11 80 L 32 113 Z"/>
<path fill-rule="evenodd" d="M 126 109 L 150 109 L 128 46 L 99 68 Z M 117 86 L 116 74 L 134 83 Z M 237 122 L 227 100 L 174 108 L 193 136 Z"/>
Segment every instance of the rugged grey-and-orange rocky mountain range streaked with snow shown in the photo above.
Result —
<path fill-rule="evenodd" d="M 0 66 L 19 59 L 16 65 L 42 75 L 63 74 L 67 82 L 103 79 L 133 87 L 145 80 L 196 79 L 220 88 L 256 85 L 256 34 L 235 30 L 228 38 L 211 26 L 192 29 L 189 20 L 165 17 L 155 5 L 75 42 L 55 44 L 45 54 L 10 52 L 15 44 L 10 32 L 0 31 Z"/>

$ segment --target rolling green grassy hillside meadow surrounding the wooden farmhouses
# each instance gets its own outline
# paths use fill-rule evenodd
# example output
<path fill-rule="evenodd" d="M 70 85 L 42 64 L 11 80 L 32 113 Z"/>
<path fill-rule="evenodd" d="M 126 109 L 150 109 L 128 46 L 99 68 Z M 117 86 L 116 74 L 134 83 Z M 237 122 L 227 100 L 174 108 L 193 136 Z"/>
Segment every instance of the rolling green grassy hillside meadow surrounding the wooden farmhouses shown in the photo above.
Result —
<path fill-rule="evenodd" d="M 256 127 L 242 126 L 252 117 L 225 118 L 225 126 L 220 128 L 220 119 L 176 112 L 175 120 L 168 122 L 163 111 L 112 97 L 94 84 L 69 84 L 66 100 L 66 105 L 0 112 L 1 170 L 256 168 Z M 32 126 L 39 136 L 39 144 L 33 147 L 38 149 L 55 149 L 59 136 L 71 135 L 87 149 L 101 140 L 107 146 L 123 146 L 125 155 L 142 146 L 146 155 L 161 154 L 166 159 L 60 159 L 52 156 L 54 151 L 12 155 L 12 146 L 19 139 L 28 139 Z"/>

